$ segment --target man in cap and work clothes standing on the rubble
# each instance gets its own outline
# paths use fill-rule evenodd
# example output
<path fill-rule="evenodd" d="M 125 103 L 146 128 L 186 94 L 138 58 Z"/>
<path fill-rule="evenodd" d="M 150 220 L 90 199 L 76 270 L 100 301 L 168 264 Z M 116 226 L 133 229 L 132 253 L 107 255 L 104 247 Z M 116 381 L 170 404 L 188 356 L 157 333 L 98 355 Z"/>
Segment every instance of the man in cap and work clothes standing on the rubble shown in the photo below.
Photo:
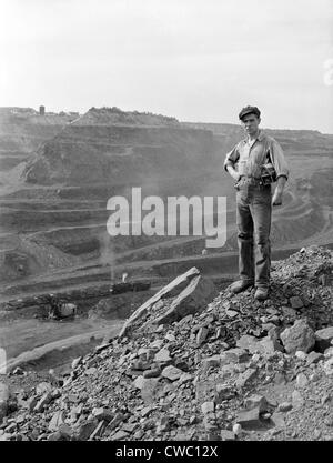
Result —
<path fill-rule="evenodd" d="M 255 284 L 255 299 L 263 301 L 270 286 L 272 205 L 282 204 L 289 169 L 280 144 L 259 129 L 260 110 L 243 108 L 239 118 L 246 138 L 224 161 L 236 189 L 240 280 L 231 285 L 231 291 L 236 294 Z M 273 195 L 272 181 L 278 182 Z"/>

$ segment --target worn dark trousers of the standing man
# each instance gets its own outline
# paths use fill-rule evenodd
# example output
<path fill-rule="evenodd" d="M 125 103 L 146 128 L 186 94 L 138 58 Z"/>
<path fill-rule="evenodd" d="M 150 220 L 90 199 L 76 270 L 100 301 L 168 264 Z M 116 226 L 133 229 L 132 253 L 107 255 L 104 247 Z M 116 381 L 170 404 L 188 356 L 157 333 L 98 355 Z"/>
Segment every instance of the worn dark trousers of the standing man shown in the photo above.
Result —
<path fill-rule="evenodd" d="M 271 185 L 260 185 L 254 179 L 242 178 L 235 188 L 240 278 L 254 282 L 258 288 L 268 288 L 271 268 Z"/>

